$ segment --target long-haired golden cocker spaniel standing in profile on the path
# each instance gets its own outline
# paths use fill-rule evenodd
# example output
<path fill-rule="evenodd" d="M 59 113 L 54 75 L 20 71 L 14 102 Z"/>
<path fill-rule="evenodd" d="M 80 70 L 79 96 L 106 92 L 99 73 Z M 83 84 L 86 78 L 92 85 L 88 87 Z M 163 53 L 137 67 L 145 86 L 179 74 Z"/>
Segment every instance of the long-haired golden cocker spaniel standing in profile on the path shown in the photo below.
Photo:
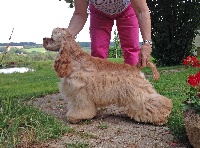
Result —
<path fill-rule="evenodd" d="M 91 119 L 98 107 L 111 104 L 123 107 L 138 122 L 162 125 L 168 121 L 172 101 L 158 94 L 136 66 L 92 57 L 65 28 L 55 28 L 52 38 L 44 38 L 43 46 L 59 51 L 54 69 L 61 78 L 59 90 L 68 100 L 70 122 Z M 158 79 L 155 65 L 148 66 L 153 70 L 154 79 Z"/>

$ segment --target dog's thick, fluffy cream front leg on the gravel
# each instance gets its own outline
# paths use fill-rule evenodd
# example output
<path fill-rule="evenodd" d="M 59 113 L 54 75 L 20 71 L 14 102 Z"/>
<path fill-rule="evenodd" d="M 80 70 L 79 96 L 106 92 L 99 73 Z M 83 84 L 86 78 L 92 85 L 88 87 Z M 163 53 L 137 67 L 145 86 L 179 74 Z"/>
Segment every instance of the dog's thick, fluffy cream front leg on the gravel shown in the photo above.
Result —
<path fill-rule="evenodd" d="M 79 92 L 75 98 L 69 99 L 67 120 L 70 123 L 77 123 L 84 119 L 92 119 L 96 115 L 96 107 L 93 101 Z"/>

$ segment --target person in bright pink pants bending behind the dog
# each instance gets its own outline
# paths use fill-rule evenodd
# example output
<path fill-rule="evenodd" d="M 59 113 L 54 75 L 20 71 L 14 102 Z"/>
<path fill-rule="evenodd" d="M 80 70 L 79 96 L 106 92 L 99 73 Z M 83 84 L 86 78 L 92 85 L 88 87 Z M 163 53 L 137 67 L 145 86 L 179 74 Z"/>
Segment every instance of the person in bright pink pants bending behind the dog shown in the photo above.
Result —
<path fill-rule="evenodd" d="M 74 0 L 75 11 L 68 30 L 75 37 L 84 27 L 90 11 L 91 55 L 106 59 L 112 26 L 116 26 L 124 63 L 142 69 L 150 60 L 151 19 L 146 0 Z M 139 28 L 143 44 L 139 45 Z"/>

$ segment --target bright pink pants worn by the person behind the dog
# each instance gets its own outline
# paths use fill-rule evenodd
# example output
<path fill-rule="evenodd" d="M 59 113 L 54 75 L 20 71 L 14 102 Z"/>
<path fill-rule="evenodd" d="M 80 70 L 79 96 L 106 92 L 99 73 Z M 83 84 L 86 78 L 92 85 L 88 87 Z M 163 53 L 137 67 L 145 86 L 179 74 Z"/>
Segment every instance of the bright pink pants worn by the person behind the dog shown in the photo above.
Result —
<path fill-rule="evenodd" d="M 139 25 L 131 4 L 116 15 L 103 13 L 90 4 L 91 55 L 107 59 L 114 20 L 116 20 L 124 63 L 136 65 L 140 52 Z"/>

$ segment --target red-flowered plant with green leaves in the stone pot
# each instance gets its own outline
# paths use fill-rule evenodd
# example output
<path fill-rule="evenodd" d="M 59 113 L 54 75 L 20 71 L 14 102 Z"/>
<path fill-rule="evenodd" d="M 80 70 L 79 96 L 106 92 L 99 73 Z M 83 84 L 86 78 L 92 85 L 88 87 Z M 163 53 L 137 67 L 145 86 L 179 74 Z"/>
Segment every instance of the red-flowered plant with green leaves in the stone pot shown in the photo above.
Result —
<path fill-rule="evenodd" d="M 183 60 L 183 64 L 185 67 L 200 67 L 200 61 L 195 56 L 188 56 Z M 186 82 L 190 85 L 190 90 L 187 93 L 188 98 L 183 103 L 183 109 L 192 109 L 200 114 L 200 70 L 194 75 L 189 75 Z"/>

